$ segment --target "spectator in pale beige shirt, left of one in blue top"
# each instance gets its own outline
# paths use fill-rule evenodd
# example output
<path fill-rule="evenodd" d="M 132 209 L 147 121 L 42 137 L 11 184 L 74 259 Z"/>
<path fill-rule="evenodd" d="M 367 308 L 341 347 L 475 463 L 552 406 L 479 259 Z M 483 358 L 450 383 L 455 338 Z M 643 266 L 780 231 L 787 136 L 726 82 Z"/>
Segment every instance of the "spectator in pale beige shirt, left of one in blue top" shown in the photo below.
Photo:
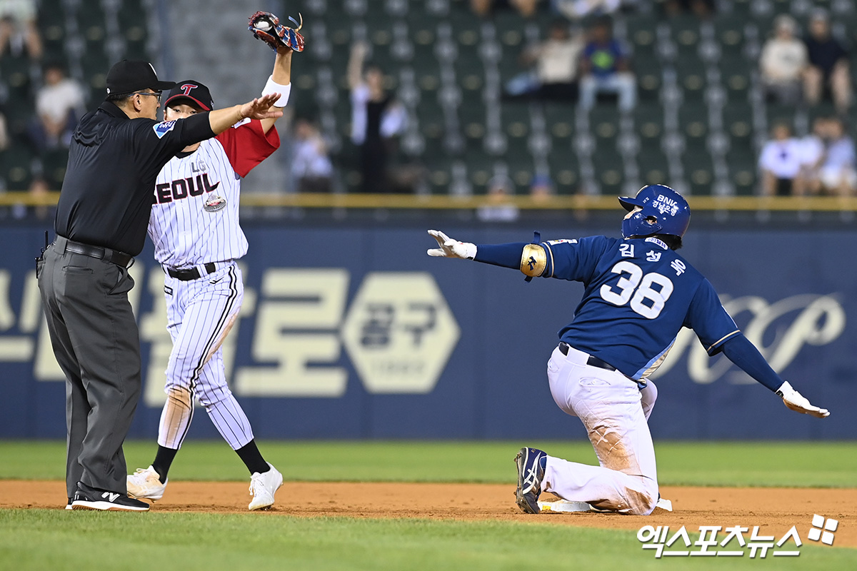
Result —
<path fill-rule="evenodd" d="M 578 60 L 583 47 L 583 38 L 580 34 L 572 36 L 566 20 L 554 20 L 548 30 L 548 39 L 530 46 L 521 54 L 521 62 L 534 68 L 509 80 L 506 94 L 558 101 L 576 99 Z"/>

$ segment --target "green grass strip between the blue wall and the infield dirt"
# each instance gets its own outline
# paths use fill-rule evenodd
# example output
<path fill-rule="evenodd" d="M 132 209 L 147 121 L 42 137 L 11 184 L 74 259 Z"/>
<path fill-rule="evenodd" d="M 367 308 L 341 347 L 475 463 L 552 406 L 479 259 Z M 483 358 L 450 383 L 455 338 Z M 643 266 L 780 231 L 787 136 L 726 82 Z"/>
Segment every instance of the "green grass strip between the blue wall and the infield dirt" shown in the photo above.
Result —
<path fill-rule="evenodd" d="M 261 442 L 287 480 L 512 483 L 521 446 L 596 463 L 588 442 Z M 147 467 L 154 442 L 125 445 L 129 470 Z M 857 443 L 656 443 L 662 485 L 857 487 Z M 0 479 L 64 479 L 63 442 L 0 441 Z M 189 441 L 171 469 L 184 480 L 243 480 L 225 443 Z"/>

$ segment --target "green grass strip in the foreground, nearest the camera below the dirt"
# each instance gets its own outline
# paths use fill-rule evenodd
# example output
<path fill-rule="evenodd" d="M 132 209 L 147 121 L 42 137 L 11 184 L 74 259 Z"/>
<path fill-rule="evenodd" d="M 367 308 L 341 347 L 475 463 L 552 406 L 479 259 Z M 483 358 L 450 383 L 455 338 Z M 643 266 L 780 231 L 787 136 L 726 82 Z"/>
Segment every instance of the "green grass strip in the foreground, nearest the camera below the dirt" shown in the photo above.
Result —
<path fill-rule="evenodd" d="M 633 532 L 437 520 L 273 514 L 0 510 L 3 569 L 819 569 L 852 571 L 857 550 L 800 556 L 655 559 Z"/>

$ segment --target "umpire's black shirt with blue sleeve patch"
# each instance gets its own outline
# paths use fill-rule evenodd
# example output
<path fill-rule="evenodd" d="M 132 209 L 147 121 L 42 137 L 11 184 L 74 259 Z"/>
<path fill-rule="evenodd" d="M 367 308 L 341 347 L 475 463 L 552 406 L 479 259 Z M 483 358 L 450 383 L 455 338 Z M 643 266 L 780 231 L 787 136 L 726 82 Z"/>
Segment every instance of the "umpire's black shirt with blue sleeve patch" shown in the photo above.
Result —
<path fill-rule="evenodd" d="M 105 101 L 75 128 L 57 234 L 136 256 L 146 241 L 158 173 L 185 146 L 213 136 L 208 113 L 168 122 L 131 119 Z"/>

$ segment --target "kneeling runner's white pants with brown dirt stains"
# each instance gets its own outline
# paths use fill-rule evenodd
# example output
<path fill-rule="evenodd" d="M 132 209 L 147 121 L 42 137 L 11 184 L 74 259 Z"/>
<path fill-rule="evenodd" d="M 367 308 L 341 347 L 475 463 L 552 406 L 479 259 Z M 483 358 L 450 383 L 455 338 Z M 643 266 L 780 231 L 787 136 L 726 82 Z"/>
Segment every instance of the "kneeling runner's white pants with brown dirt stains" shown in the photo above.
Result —
<path fill-rule="evenodd" d="M 548 381 L 556 404 L 584 423 L 600 466 L 548 455 L 542 491 L 597 509 L 648 515 L 658 499 L 647 422 L 657 390 L 651 382 L 640 390 L 618 371 L 587 365 L 588 358 L 575 348 L 567 355 L 555 348 Z"/>

